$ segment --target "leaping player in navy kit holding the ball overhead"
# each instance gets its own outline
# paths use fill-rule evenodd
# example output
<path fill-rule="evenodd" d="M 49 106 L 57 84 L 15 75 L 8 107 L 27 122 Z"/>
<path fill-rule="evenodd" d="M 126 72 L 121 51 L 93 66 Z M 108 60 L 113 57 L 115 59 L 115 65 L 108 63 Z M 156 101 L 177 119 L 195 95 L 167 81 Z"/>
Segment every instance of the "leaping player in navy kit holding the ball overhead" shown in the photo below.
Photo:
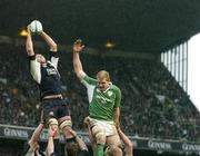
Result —
<path fill-rule="evenodd" d="M 67 144 L 72 144 L 76 138 L 70 133 L 71 117 L 67 100 L 62 98 L 61 78 L 57 68 L 59 61 L 57 43 L 43 30 L 39 35 L 50 48 L 49 60 L 46 60 L 41 53 L 34 53 L 32 35 L 30 26 L 28 26 L 26 49 L 30 61 L 31 76 L 40 89 L 44 123 L 52 129 L 57 129 L 54 138 L 58 138 L 59 129 L 61 129 Z"/>

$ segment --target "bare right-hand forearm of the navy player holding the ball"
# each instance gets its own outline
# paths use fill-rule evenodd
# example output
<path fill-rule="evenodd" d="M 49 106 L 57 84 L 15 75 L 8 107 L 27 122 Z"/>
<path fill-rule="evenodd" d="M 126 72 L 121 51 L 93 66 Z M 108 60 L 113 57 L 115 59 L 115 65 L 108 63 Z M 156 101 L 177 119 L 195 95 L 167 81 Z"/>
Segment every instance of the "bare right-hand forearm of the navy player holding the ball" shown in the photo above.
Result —
<path fill-rule="evenodd" d="M 57 52 L 58 48 L 57 48 L 57 43 L 54 42 L 54 40 L 47 35 L 43 30 L 40 32 L 40 36 L 44 39 L 44 41 L 48 43 L 48 46 L 50 47 L 50 51 L 52 52 Z"/>

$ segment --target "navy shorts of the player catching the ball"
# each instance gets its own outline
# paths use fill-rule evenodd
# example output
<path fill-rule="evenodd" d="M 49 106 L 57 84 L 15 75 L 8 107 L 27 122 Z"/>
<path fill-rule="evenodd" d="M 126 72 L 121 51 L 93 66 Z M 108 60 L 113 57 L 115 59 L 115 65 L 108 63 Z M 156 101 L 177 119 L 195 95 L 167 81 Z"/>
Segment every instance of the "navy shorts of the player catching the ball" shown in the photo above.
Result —
<path fill-rule="evenodd" d="M 68 100 L 66 99 L 44 99 L 42 100 L 43 118 L 47 121 L 49 118 L 61 118 L 70 116 Z"/>

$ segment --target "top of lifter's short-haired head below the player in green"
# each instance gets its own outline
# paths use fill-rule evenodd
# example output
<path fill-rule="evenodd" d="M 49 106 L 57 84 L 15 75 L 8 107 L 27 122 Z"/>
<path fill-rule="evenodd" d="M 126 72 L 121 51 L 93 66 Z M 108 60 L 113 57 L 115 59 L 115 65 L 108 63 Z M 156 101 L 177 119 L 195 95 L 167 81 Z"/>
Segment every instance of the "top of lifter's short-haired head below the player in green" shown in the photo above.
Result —
<path fill-rule="evenodd" d="M 122 156 L 121 147 L 118 145 L 110 145 L 106 149 L 106 155 L 107 156 Z"/>

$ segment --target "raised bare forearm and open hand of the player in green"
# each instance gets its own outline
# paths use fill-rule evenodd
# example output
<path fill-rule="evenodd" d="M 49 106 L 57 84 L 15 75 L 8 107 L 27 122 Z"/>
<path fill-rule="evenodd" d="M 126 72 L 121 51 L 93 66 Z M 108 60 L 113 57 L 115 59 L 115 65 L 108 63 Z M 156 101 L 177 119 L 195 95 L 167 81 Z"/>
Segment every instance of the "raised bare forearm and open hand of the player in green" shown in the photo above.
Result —
<path fill-rule="evenodd" d="M 73 69 L 80 80 L 86 76 L 80 60 L 80 52 L 83 48 L 84 46 L 80 39 L 73 43 Z"/>

